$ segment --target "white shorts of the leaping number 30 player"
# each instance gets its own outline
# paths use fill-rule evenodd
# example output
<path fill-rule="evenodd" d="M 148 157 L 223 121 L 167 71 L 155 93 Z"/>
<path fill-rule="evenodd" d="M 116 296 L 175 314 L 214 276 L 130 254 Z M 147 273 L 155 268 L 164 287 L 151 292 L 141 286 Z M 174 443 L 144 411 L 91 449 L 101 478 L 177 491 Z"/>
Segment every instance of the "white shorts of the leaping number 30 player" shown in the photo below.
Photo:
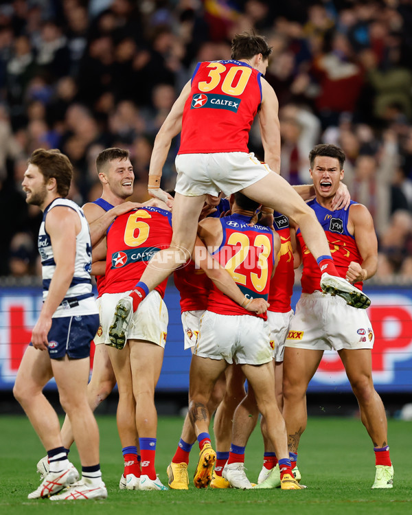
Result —
<path fill-rule="evenodd" d="M 176 156 L 177 181 L 174 190 L 185 196 L 236 193 L 271 172 L 253 153 L 218 152 Z"/>

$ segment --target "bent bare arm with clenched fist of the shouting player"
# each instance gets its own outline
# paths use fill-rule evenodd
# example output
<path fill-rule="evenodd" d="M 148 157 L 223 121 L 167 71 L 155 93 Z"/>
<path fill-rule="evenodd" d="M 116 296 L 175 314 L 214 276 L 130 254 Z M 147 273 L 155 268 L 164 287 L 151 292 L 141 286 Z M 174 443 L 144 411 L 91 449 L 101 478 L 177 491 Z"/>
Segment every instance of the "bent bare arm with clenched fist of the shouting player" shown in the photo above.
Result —
<path fill-rule="evenodd" d="M 355 283 L 375 275 L 378 267 L 378 240 L 374 220 L 364 205 L 351 205 L 349 222 L 353 224 L 356 246 L 363 260 L 362 264 L 351 261 L 347 268 L 346 279 Z"/>

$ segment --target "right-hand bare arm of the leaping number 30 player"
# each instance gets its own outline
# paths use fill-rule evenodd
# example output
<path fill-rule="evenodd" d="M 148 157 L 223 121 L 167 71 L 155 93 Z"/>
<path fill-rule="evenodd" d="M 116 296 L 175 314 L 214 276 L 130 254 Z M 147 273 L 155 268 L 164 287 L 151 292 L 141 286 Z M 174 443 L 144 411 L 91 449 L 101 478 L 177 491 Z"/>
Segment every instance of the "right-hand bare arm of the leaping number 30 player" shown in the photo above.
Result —
<path fill-rule="evenodd" d="M 262 78 L 262 104 L 259 111 L 260 135 L 264 148 L 264 161 L 269 168 L 280 173 L 279 102 L 273 87 Z"/>

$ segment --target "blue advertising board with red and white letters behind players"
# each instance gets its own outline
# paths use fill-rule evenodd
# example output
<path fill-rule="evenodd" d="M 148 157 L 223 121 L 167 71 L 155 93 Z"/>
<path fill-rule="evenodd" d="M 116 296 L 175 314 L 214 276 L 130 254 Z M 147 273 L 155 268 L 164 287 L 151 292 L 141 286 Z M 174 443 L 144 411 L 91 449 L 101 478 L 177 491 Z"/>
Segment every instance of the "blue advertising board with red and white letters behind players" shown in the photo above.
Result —
<path fill-rule="evenodd" d="M 412 391 L 412 291 L 407 288 L 369 288 L 368 309 L 375 333 L 372 369 L 376 389 L 382 392 Z M 293 295 L 293 306 L 299 291 Z M 183 350 L 179 293 L 168 287 L 165 302 L 169 309 L 168 341 L 158 391 L 185 391 L 188 388 L 190 350 Z M 38 288 L 2 288 L 0 292 L 0 389 L 12 389 L 21 357 L 30 342 L 32 328 L 41 308 Z M 361 334 L 365 330 L 365 334 Z M 360 337 L 369 337 L 369 328 L 360 328 Z M 93 347 L 93 345 L 92 345 Z M 55 388 L 50 382 L 49 388 Z M 310 382 L 310 391 L 350 391 L 345 371 L 336 352 L 325 352 Z"/>

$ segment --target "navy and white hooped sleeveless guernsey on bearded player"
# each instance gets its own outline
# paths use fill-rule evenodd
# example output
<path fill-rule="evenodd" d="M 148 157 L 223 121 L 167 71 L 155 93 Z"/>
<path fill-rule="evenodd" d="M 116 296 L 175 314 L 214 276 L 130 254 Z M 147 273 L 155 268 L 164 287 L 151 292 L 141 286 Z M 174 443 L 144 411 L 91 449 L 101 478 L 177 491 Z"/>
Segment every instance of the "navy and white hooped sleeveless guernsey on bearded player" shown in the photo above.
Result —
<path fill-rule="evenodd" d="M 76 211 L 80 218 L 81 229 L 76 236 L 76 260 L 73 279 L 71 280 L 65 298 L 60 306 L 58 306 L 56 312 L 54 312 L 53 318 L 98 313 L 98 308 L 95 305 L 95 299 L 91 289 L 91 239 L 89 224 L 87 223 L 82 209 L 67 198 L 56 198 L 46 207 L 38 231 L 38 252 L 41 255 L 43 275 L 43 301 L 47 299 L 50 282 L 56 271 L 52 241 L 45 229 L 46 216 L 49 211 L 56 206 L 70 207 Z"/>

